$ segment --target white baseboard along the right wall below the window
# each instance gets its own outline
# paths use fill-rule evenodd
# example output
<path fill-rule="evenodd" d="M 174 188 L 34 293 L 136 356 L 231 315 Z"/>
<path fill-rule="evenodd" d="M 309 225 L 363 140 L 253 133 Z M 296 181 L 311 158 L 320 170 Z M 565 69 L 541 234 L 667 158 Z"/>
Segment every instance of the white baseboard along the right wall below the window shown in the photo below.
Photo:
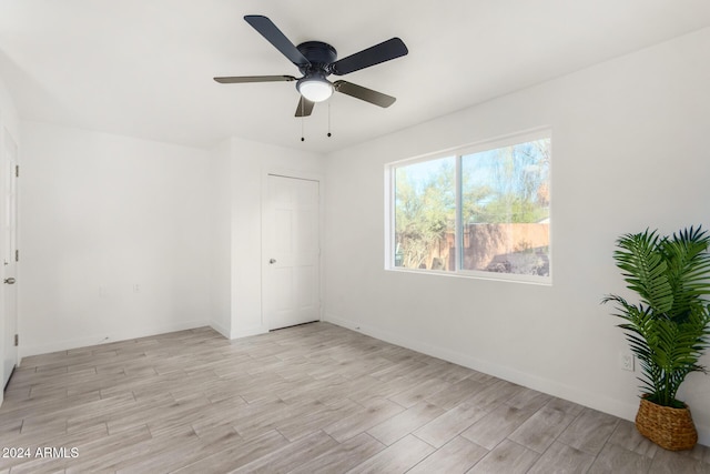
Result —
<path fill-rule="evenodd" d="M 547 393 L 548 395 L 578 403 L 580 405 L 598 410 L 600 412 L 608 413 L 623 420 L 633 421 L 639 407 L 638 400 L 620 402 L 607 396 L 590 394 L 588 391 L 581 391 L 575 386 L 567 385 L 558 381 L 542 379 L 537 375 L 531 375 L 493 363 L 490 361 L 479 360 L 467 354 L 450 351 L 445 347 L 415 341 L 408 337 L 404 337 L 399 334 L 392 333 L 389 331 L 384 331 L 379 327 L 361 324 L 358 322 L 336 317 L 331 314 L 326 315 L 324 321 L 352 331 L 361 332 L 365 335 L 369 335 L 381 341 L 410 349 L 413 351 L 432 355 L 434 357 L 443 359 L 445 361 L 453 362 L 455 364 L 463 365 L 465 367 L 473 369 L 475 371 L 483 372 L 485 374 L 493 375 L 498 379 L 526 386 L 528 389 L 537 390 L 538 392 Z M 698 430 L 698 442 L 704 446 L 710 446 L 710 426 L 696 425 L 696 428 Z"/>

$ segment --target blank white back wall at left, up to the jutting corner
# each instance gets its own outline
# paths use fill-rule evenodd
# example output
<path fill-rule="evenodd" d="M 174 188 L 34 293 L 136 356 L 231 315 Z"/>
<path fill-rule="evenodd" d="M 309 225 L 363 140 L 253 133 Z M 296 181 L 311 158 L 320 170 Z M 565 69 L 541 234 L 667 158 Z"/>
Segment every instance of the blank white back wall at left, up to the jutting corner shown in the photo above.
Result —
<path fill-rule="evenodd" d="M 209 153 L 21 128 L 21 354 L 207 324 Z"/>

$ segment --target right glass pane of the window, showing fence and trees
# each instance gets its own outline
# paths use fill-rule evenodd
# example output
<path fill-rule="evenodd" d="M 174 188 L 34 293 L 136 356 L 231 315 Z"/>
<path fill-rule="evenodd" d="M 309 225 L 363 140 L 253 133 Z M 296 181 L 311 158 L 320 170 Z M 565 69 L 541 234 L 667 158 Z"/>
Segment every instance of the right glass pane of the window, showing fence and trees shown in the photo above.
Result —
<path fill-rule="evenodd" d="M 549 276 L 550 139 L 462 157 L 463 270 Z"/>

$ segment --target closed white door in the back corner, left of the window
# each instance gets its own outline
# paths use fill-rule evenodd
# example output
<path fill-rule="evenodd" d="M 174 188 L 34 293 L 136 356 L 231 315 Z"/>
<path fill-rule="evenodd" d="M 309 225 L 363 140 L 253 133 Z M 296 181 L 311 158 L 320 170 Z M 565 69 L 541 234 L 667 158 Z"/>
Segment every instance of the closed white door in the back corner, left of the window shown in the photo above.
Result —
<path fill-rule="evenodd" d="M 262 307 L 270 330 L 321 319 L 320 183 L 268 175 Z"/>

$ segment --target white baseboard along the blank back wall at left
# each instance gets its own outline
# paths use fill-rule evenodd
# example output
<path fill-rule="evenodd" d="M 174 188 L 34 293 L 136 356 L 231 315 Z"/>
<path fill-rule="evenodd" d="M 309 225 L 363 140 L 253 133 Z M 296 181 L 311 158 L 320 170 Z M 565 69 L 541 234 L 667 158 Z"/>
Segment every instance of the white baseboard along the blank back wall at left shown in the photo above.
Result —
<path fill-rule="evenodd" d="M 30 355 L 49 354 L 51 352 L 69 351 L 71 349 L 85 347 L 90 345 L 108 344 L 118 341 L 128 341 L 131 339 L 146 337 L 156 334 L 164 334 L 175 331 L 192 330 L 195 327 L 202 327 L 210 325 L 207 321 L 186 321 L 180 323 L 164 324 L 160 326 L 150 326 L 141 329 L 132 329 L 128 331 L 120 331 L 111 334 L 102 333 L 100 335 L 92 335 L 87 337 L 74 339 L 70 341 L 57 341 L 51 344 L 38 344 L 38 345 L 20 345 L 19 353 L 20 360 L 22 357 L 29 357 Z"/>

